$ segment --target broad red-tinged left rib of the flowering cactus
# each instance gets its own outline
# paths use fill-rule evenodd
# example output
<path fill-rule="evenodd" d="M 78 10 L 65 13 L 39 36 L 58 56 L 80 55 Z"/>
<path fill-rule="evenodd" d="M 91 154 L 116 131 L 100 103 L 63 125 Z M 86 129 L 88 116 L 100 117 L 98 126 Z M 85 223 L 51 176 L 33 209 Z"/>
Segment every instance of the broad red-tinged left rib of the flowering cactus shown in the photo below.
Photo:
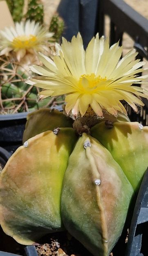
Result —
<path fill-rule="evenodd" d="M 29 139 L 0 175 L 0 224 L 20 244 L 61 230 L 60 197 L 67 161 L 76 142 L 73 128 Z"/>

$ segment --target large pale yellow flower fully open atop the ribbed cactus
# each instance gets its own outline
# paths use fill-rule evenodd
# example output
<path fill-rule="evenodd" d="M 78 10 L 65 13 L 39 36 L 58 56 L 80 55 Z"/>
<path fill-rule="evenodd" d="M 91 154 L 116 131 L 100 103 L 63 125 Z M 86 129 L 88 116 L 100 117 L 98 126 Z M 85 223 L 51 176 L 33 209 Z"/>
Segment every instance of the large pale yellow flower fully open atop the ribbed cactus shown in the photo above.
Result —
<path fill-rule="evenodd" d="M 40 94 L 56 96 L 66 94 L 65 111 L 72 111 L 81 116 L 91 106 L 98 116 L 108 112 L 114 116 L 117 112 L 126 113 L 121 104 L 125 100 L 137 111 L 137 105 L 144 105 L 140 96 L 148 98 L 144 89 L 132 86 L 140 84 L 146 77 L 137 77 L 144 62 L 134 60 L 137 53 L 131 50 L 121 58 L 122 47 L 119 43 L 109 47 L 109 40 L 104 37 L 92 38 L 86 51 L 80 33 L 67 42 L 63 38 L 60 45 L 56 44 L 56 56 L 53 60 L 40 54 L 40 61 L 45 66 L 33 65 L 31 70 L 40 74 L 27 81 L 45 89 Z M 120 59 L 121 58 L 121 59 Z"/>

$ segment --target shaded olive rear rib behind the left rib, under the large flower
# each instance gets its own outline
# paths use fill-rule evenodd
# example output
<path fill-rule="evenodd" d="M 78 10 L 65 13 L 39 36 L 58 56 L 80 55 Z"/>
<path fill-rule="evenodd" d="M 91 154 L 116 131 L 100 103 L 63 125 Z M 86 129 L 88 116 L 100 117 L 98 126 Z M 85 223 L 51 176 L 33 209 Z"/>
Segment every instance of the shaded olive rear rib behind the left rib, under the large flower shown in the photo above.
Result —
<path fill-rule="evenodd" d="M 27 115 L 23 142 L 39 133 L 54 130 L 57 127 L 72 127 L 72 119 L 68 119 L 56 109 L 39 109 Z"/>

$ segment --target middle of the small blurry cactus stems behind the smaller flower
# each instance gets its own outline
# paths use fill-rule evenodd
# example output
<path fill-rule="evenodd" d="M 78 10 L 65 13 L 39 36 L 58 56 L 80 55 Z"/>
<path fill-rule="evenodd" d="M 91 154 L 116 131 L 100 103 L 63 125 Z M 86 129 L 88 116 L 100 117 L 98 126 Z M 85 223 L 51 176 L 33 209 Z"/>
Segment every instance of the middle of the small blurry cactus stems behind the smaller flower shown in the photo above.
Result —
<path fill-rule="evenodd" d="M 43 23 L 43 3 L 41 0 L 29 0 L 28 2 L 28 10 L 26 13 L 26 19 L 34 20 L 39 23 Z"/>

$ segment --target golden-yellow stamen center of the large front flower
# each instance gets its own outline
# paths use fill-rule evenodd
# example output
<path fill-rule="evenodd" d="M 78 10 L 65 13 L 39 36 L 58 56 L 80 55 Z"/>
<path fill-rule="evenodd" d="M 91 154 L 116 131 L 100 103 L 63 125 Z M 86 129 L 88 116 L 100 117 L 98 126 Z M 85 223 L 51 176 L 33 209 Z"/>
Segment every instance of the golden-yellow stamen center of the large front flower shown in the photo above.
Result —
<path fill-rule="evenodd" d="M 83 74 L 78 81 L 78 88 L 81 93 L 94 93 L 94 91 L 98 91 L 98 85 L 106 80 L 106 77 L 96 77 L 94 73 Z"/>

